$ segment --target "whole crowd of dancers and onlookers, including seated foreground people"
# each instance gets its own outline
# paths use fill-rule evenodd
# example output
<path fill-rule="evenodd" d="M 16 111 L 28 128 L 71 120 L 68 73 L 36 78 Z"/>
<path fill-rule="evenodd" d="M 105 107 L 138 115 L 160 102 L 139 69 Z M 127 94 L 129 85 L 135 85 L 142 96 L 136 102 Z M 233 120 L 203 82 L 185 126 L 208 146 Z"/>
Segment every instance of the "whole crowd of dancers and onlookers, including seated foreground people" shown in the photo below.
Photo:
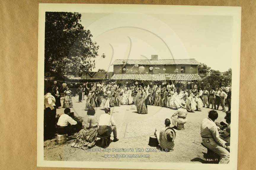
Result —
<path fill-rule="evenodd" d="M 48 87 L 46 91 L 44 96 L 44 137 L 49 139 L 55 135 L 56 108 L 60 107 L 61 103 L 58 87 L 54 89 Z M 73 132 L 77 132 L 77 138 L 72 147 L 93 147 L 98 134 L 109 136 L 112 132 L 113 141 L 118 141 L 116 123 L 113 116 L 110 115 L 110 108 L 135 104 L 138 114 L 147 114 L 148 105 L 177 109 L 171 116 L 171 120 L 165 120 L 166 126 L 155 132 L 161 148 L 172 150 L 177 123 L 185 124 L 188 112 L 200 111 L 202 107 L 210 108 L 211 106 L 212 110 L 209 111 L 208 118 L 201 122 L 202 141 L 204 146 L 220 155 L 220 163 L 229 161 L 229 146 L 226 146 L 225 143 L 230 142 L 231 86 L 217 89 L 211 87 L 208 91 L 206 87 L 203 90 L 201 87 L 197 89 L 196 84 L 193 89 L 176 88 L 173 82 L 165 86 L 164 84 L 163 86 L 138 84 L 120 86 L 120 84 L 110 82 L 109 84 L 90 84 L 89 87 L 86 83 L 76 89 L 76 94 L 79 95 L 78 102 L 85 100 L 85 108 L 89 115 L 86 127 L 82 125 L 83 120 L 76 119 L 73 112 L 70 112 L 69 108 L 73 107 L 72 95 L 75 95 L 73 93 L 66 87 L 63 99 L 63 108 L 66 109 L 64 114 L 59 117 L 56 126 L 58 134 L 72 135 Z M 226 99 L 228 111 L 225 110 Z M 226 112 L 225 121 L 214 123 L 218 117 L 216 110 L 219 109 L 219 106 L 222 107 L 223 112 Z M 95 116 L 95 107 L 102 107 L 105 110 L 105 114 L 101 115 L 99 120 Z"/>

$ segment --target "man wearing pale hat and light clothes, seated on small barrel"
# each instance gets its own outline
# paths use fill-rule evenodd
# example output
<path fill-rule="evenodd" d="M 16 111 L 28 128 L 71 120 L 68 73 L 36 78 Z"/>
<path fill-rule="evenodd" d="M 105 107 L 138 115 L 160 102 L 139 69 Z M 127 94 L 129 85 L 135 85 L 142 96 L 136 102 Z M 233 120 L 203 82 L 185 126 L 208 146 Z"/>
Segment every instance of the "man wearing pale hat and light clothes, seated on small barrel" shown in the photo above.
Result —
<path fill-rule="evenodd" d="M 176 115 L 178 116 L 175 117 Z M 186 104 L 184 101 L 182 101 L 180 104 L 180 108 L 172 115 L 172 125 L 174 125 L 173 128 L 175 129 L 177 128 L 176 122 L 185 124 L 187 122 L 187 115 L 188 115 L 188 111 L 186 109 Z"/>

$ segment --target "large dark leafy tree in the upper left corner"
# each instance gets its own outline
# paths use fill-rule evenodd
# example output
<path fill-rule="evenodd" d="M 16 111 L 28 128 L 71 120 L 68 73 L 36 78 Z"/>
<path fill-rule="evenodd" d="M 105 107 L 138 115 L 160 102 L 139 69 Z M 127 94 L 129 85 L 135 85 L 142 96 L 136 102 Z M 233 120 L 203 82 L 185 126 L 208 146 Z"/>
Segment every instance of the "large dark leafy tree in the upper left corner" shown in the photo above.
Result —
<path fill-rule="evenodd" d="M 77 75 L 95 68 L 99 46 L 84 30 L 81 14 L 45 13 L 44 71 L 51 75 Z"/>

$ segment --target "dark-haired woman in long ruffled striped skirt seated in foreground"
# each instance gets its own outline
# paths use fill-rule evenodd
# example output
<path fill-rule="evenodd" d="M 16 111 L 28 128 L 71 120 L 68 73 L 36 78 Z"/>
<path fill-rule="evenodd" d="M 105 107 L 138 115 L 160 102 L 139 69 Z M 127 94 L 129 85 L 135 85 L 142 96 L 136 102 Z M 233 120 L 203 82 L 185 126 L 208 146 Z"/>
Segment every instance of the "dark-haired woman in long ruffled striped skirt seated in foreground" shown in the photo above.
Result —
<path fill-rule="evenodd" d="M 71 147 L 86 149 L 95 146 L 98 134 L 98 119 L 95 116 L 95 109 L 90 108 L 87 111 L 88 121 L 84 129 L 81 129 L 76 135 L 76 141 L 72 143 Z"/>

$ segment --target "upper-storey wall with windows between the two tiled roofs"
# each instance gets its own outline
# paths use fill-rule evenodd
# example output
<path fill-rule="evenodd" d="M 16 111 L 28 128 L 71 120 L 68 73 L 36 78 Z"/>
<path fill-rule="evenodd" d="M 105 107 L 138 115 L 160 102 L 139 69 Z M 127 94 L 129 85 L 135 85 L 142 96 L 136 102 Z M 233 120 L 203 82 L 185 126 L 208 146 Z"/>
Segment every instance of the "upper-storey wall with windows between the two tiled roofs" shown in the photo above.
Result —
<path fill-rule="evenodd" d="M 154 72 L 154 73 L 174 73 L 174 70 L 176 68 L 178 68 L 179 69 L 178 73 L 181 73 L 180 69 L 182 66 L 185 66 L 185 73 L 187 73 L 187 74 L 196 74 L 197 73 L 197 65 L 156 65 L 156 66 L 154 65 L 154 66 L 152 66 L 153 68 L 159 67 L 160 69 L 159 70 L 153 69 L 152 72 Z M 126 73 L 134 73 L 134 74 L 140 73 L 140 71 L 139 71 L 140 65 L 139 65 L 139 67 L 135 67 L 134 65 L 126 65 L 125 67 L 126 67 L 126 69 L 128 68 L 128 71 L 126 71 Z M 146 65 L 146 66 L 144 65 L 144 67 L 145 67 L 144 71 L 151 72 L 149 70 L 149 67 L 150 67 L 149 65 Z M 191 67 L 192 67 L 192 69 L 190 69 Z M 165 71 L 163 70 L 164 68 L 166 69 Z M 136 71 L 138 71 L 138 72 L 136 72 Z M 115 65 L 113 68 L 113 72 L 114 72 L 114 74 L 121 74 L 122 73 L 122 65 Z"/>

